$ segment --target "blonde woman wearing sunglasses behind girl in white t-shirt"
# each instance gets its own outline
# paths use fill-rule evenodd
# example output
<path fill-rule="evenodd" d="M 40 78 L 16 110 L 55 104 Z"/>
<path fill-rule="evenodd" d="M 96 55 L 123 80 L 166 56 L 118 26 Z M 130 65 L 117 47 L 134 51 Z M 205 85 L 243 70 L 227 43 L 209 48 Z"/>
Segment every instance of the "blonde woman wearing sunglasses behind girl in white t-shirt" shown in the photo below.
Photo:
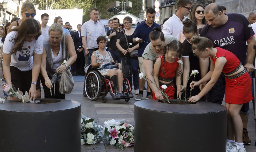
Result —
<path fill-rule="evenodd" d="M 10 28 L 7 32 L 10 33 L 11 29 L 12 29 L 12 26 L 20 26 L 22 24 L 22 22 L 24 22 L 26 19 L 30 19 L 30 18 L 33 18 L 35 17 L 36 15 L 36 9 L 35 9 L 35 6 L 33 3 L 29 2 L 28 0 L 26 2 L 24 2 L 22 4 L 22 7 L 21 7 L 21 16 L 22 18 L 19 19 L 19 20 L 16 20 L 15 22 L 12 22 L 11 25 L 10 25 Z M 36 22 L 38 23 L 39 27 L 40 27 L 40 33 L 42 32 L 41 31 L 41 23 L 39 21 L 36 20 Z"/>

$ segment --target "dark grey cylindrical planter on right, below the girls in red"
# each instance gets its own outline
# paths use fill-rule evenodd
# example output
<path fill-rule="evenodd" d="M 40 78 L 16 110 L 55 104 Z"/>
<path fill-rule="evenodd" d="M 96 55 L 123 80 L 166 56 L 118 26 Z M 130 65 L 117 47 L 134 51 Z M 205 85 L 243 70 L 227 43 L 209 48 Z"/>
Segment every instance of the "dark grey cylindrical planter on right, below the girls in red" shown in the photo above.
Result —
<path fill-rule="evenodd" d="M 227 108 L 219 104 L 138 101 L 134 126 L 134 152 L 226 151 Z"/>

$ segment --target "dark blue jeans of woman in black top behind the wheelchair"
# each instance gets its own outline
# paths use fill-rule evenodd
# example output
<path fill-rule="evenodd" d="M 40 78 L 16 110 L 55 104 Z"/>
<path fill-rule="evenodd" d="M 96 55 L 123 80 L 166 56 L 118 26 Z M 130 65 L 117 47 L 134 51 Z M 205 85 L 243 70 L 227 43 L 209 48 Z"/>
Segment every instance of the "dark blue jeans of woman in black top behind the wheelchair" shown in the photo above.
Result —
<path fill-rule="evenodd" d="M 130 86 L 132 87 L 132 82 L 133 82 L 134 90 L 138 90 L 139 89 L 139 71 L 138 71 L 139 60 L 137 58 L 132 58 L 130 56 L 128 56 L 127 62 L 125 57 L 121 57 L 121 60 L 122 60 L 122 67 L 125 67 L 126 64 L 131 66 L 131 74 L 128 80 L 129 80 Z"/>

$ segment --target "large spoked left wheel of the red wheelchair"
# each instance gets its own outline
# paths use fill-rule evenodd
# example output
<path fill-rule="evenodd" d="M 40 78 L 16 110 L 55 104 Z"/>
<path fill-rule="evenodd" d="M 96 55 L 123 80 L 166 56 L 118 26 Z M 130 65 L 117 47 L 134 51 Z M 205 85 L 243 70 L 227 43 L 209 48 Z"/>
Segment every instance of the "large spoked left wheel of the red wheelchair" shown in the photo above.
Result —
<path fill-rule="evenodd" d="M 90 100 L 96 101 L 101 93 L 101 77 L 97 71 L 91 71 L 85 79 L 85 92 Z"/>

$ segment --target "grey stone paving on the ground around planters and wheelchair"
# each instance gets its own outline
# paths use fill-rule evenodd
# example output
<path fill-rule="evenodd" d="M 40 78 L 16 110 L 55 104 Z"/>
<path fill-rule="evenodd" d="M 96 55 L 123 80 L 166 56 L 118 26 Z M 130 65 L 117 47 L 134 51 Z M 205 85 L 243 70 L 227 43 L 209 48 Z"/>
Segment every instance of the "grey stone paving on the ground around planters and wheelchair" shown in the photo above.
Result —
<path fill-rule="evenodd" d="M 97 101 L 91 101 L 87 97 L 82 95 L 84 76 L 74 76 L 75 85 L 73 91 L 70 94 L 66 95 L 66 99 L 78 101 L 81 103 L 81 112 L 87 117 L 97 119 L 99 124 L 110 119 L 125 119 L 127 121 L 133 122 L 133 104 L 135 99 L 130 99 L 129 102 L 124 100 L 112 100 L 112 97 L 107 95 L 107 102 L 102 103 L 101 97 Z M 44 93 L 42 92 L 42 97 Z M 2 89 L 0 90 L 0 97 L 3 96 Z M 134 95 L 135 97 L 136 95 Z M 146 92 L 144 92 L 145 99 Z M 224 105 L 224 102 L 223 102 Z M 101 124 L 102 125 L 102 124 Z M 103 126 L 103 125 L 102 125 Z M 136 126 L 135 126 L 136 127 Z M 253 105 L 250 102 L 250 114 L 249 121 L 247 126 L 248 134 L 252 140 L 251 145 L 246 145 L 247 152 L 256 151 L 255 144 L 255 121 L 254 121 L 254 112 Z M 161 140 L 161 139 L 160 139 Z M 202 139 L 205 140 L 205 139 Z M 199 143 L 200 146 L 200 143 Z M 133 148 L 125 148 L 127 152 L 132 152 Z M 94 145 L 81 145 L 81 152 L 115 152 L 119 151 L 117 147 L 110 146 L 105 142 L 94 144 Z"/>

